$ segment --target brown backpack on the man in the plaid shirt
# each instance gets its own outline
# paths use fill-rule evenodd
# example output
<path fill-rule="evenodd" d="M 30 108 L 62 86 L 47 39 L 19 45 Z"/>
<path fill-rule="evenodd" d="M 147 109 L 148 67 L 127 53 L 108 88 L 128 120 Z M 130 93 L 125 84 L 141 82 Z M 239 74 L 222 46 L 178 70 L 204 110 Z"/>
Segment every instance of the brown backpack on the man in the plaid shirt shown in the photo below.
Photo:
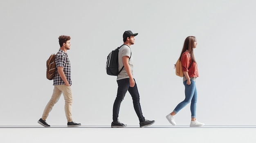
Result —
<path fill-rule="evenodd" d="M 46 78 L 49 80 L 52 80 L 57 72 L 55 57 L 56 54 L 52 54 L 46 61 Z"/>

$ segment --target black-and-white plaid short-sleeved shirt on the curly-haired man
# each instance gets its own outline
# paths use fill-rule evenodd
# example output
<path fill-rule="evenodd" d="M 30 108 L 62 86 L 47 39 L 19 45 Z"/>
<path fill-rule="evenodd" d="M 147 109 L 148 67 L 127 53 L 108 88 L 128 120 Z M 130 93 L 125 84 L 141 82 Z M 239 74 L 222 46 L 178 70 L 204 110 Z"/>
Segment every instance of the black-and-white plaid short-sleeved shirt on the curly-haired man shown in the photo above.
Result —
<path fill-rule="evenodd" d="M 71 86 L 72 85 L 71 66 L 70 66 L 70 60 L 67 57 L 67 53 L 65 53 L 60 49 L 55 57 L 55 62 L 56 62 L 57 68 L 58 66 L 63 67 L 63 71 L 65 73 L 67 81 Z M 63 85 L 63 84 L 65 84 L 64 81 L 61 79 L 61 76 L 58 74 L 58 72 L 56 72 L 56 75 L 53 79 L 53 85 Z"/>

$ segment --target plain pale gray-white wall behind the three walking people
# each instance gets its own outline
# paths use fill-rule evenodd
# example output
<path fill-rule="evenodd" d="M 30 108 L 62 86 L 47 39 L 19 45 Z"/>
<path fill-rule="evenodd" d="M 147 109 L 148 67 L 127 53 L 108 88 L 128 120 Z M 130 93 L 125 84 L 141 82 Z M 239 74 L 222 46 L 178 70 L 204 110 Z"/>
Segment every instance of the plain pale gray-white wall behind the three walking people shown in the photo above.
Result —
<path fill-rule="evenodd" d="M 139 33 L 131 46 L 142 112 L 155 125 L 184 99 L 175 75 L 187 36 L 194 50 L 197 117 L 206 125 L 254 125 L 254 0 L 1 0 L 1 125 L 37 125 L 52 95 L 46 60 L 58 51 L 58 36 L 71 36 L 73 119 L 82 125 L 110 125 L 116 77 L 106 74 L 108 53 L 123 44 L 124 31 Z M 176 116 L 190 123 L 190 105 Z M 139 121 L 127 93 L 119 120 Z M 50 125 L 65 125 L 63 96 L 50 112 Z"/>

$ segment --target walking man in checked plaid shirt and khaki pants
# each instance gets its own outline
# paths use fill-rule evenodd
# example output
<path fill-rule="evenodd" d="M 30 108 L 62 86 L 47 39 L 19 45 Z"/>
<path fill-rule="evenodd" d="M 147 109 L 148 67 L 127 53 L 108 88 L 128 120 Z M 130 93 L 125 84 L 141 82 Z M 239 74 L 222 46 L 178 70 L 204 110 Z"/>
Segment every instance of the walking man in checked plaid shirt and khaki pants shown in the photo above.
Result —
<path fill-rule="evenodd" d="M 70 36 L 61 35 L 58 37 L 59 44 L 61 48 L 59 49 L 56 57 L 56 67 L 57 71 L 56 75 L 53 79 L 53 85 L 54 90 L 52 93 L 52 98 L 47 103 L 45 110 L 43 112 L 42 118 L 39 119 L 38 123 L 40 125 L 43 125 L 44 127 L 50 127 L 46 123 L 46 118 L 49 115 L 49 112 L 51 112 L 52 107 L 55 103 L 58 102 L 58 99 L 61 96 L 61 93 L 63 93 L 64 99 L 65 99 L 65 114 L 67 117 L 67 127 L 77 127 L 80 126 L 80 123 L 75 123 L 72 120 L 72 91 L 71 91 L 71 68 L 70 68 L 70 60 L 67 57 L 67 50 L 70 50 Z"/>

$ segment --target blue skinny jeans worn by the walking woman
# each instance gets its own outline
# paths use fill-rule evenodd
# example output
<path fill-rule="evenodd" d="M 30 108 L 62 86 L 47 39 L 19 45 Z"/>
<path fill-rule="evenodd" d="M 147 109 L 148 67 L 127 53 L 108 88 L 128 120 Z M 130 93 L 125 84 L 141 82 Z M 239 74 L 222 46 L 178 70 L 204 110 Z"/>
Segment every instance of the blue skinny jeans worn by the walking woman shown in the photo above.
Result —
<path fill-rule="evenodd" d="M 190 110 L 191 110 L 191 118 L 195 118 L 195 110 L 196 110 L 196 101 L 197 101 L 197 91 L 195 87 L 195 81 L 190 80 L 191 84 L 187 85 L 186 81 L 183 81 L 185 86 L 185 99 L 180 102 L 176 108 L 173 110 L 175 113 L 179 112 L 182 108 L 184 108 L 190 101 Z"/>

